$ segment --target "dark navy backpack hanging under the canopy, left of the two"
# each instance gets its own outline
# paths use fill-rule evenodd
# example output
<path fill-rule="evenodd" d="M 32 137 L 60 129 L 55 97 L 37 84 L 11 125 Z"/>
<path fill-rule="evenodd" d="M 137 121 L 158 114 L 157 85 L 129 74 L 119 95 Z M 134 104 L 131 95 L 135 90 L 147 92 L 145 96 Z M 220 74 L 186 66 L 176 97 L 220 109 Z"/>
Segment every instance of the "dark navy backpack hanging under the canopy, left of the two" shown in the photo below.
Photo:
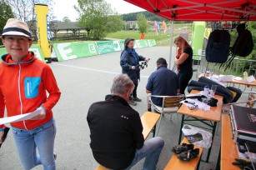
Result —
<path fill-rule="evenodd" d="M 208 62 L 224 63 L 228 60 L 230 35 L 226 30 L 214 30 L 208 37 L 205 57 Z"/>

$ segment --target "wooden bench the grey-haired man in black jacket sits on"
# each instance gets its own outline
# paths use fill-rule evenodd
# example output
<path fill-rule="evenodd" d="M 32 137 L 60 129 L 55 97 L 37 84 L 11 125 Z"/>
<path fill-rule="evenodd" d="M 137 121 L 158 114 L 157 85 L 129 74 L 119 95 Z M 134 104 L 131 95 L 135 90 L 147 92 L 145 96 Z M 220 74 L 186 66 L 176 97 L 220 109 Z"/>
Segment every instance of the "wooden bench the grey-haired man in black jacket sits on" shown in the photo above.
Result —
<path fill-rule="evenodd" d="M 151 133 L 155 125 L 157 124 L 160 118 L 160 114 L 155 112 L 144 112 L 143 116 L 140 117 L 143 124 L 143 137 L 144 139 L 148 138 L 148 135 Z M 98 165 L 95 170 L 108 170 L 108 168 Z"/>

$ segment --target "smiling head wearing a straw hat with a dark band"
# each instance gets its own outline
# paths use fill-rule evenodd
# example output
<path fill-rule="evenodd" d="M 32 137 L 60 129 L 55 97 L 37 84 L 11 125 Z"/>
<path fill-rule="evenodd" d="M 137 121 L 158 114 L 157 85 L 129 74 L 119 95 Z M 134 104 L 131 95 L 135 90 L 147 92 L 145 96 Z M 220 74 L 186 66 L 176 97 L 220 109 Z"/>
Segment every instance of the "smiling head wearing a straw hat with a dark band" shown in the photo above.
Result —
<path fill-rule="evenodd" d="M 0 37 L 14 62 L 22 61 L 27 57 L 28 48 L 32 46 L 33 42 L 27 23 L 15 18 L 8 19 Z"/>

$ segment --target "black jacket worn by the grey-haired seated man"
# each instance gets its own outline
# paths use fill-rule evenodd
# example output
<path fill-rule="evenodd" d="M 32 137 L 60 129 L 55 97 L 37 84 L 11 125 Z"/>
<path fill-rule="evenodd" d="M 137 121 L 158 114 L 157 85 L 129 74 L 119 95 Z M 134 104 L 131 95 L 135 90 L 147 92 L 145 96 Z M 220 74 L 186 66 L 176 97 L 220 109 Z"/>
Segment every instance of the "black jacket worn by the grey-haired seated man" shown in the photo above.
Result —
<path fill-rule="evenodd" d="M 107 95 L 91 105 L 87 120 L 95 160 L 106 168 L 127 168 L 144 143 L 138 112 L 122 97 Z"/>

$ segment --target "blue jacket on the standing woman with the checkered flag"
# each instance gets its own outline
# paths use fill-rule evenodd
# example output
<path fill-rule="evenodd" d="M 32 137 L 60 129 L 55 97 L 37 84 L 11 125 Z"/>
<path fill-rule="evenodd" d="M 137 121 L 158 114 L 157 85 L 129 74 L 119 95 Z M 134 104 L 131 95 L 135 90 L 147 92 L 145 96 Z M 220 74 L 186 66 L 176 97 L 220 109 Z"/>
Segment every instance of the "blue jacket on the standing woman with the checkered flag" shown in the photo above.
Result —
<path fill-rule="evenodd" d="M 139 56 L 137 52 L 136 57 L 138 61 L 144 61 L 146 59 L 146 57 Z M 138 79 L 140 79 L 140 70 L 132 69 L 133 66 L 137 66 L 136 60 L 133 57 L 132 53 L 129 53 L 127 50 L 123 50 L 120 58 L 120 65 L 122 67 L 122 73 L 128 74 L 128 77 L 131 78 L 133 83 L 135 85 L 138 84 Z"/>

